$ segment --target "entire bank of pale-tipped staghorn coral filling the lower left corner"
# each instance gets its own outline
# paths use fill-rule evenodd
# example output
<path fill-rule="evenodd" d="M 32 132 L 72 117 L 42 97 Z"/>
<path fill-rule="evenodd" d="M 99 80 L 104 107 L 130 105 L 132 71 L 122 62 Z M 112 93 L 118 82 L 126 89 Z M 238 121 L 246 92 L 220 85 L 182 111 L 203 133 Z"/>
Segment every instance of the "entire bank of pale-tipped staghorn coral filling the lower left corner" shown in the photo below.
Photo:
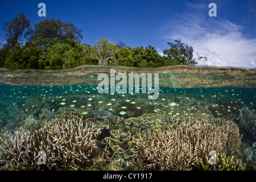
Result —
<path fill-rule="evenodd" d="M 47 122 L 32 135 L 6 133 L 1 138 L 1 161 L 6 169 L 85 169 L 98 153 L 98 134 L 96 125 L 74 118 Z M 39 151 L 46 153 L 46 165 L 37 164 Z"/>

